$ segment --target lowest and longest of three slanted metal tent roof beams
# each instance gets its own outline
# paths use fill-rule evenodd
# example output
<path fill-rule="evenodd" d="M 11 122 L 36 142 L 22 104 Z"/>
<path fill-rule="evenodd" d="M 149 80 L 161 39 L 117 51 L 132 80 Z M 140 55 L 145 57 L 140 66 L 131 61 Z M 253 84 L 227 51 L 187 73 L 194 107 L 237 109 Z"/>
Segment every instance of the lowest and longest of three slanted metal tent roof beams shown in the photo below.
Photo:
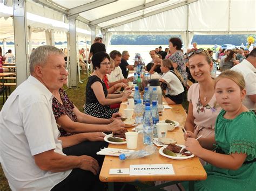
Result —
<path fill-rule="evenodd" d="M 119 22 L 119 23 L 116 23 L 116 24 L 112 24 L 112 25 L 108 25 L 108 26 L 104 26 L 101 28 L 102 31 L 106 31 L 106 30 L 109 30 L 113 27 L 117 27 L 117 26 L 120 26 L 120 25 L 124 25 L 126 23 L 131 23 L 131 22 L 134 22 L 136 20 L 139 20 L 139 19 L 142 19 L 142 18 L 146 18 L 146 17 L 150 17 L 152 15 L 156 15 L 158 13 L 161 13 L 161 12 L 165 12 L 165 11 L 169 11 L 169 10 L 172 10 L 172 9 L 176 9 L 176 8 L 179 8 L 180 6 L 184 6 L 184 5 L 188 5 L 190 3 L 194 3 L 194 2 L 197 2 L 198 0 L 186 0 L 186 1 L 183 1 L 183 2 L 180 2 L 180 3 L 177 3 L 177 4 L 173 4 L 173 5 L 170 5 L 170 6 L 166 6 L 165 8 L 163 9 L 159 9 L 159 10 L 156 10 L 156 11 L 152 11 L 152 12 L 149 12 L 149 13 L 146 13 L 145 15 L 142 15 L 142 16 L 139 16 L 139 17 L 135 17 L 135 18 L 131 18 L 131 19 L 127 19 L 127 20 L 124 20 L 123 22 Z"/>

